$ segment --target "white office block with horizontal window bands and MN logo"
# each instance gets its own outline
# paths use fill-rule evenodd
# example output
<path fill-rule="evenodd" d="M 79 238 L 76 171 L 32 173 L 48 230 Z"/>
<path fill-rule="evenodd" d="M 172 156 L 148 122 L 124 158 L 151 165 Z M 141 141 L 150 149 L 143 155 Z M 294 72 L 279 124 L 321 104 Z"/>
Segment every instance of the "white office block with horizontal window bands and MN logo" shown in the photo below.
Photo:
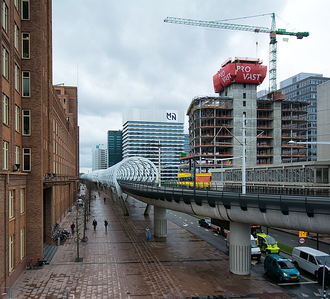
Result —
<path fill-rule="evenodd" d="M 161 180 L 176 179 L 183 126 L 183 111 L 128 109 L 123 114 L 123 158 L 144 156 L 157 166 L 161 159 Z"/>

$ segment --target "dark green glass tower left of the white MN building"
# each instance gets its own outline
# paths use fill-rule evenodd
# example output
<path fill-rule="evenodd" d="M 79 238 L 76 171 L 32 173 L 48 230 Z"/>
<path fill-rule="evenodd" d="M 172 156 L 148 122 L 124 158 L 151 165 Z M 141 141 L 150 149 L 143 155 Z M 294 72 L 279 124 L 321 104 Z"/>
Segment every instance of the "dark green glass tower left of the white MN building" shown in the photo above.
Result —
<path fill-rule="evenodd" d="M 123 131 L 108 131 L 108 167 L 123 160 Z"/>

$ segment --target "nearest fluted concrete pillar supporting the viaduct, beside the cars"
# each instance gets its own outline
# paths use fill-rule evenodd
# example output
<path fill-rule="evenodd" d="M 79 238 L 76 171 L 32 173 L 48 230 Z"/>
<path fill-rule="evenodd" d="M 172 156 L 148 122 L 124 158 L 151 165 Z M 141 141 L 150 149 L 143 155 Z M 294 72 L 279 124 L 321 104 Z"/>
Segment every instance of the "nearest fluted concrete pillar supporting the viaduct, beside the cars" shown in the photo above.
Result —
<path fill-rule="evenodd" d="M 229 271 L 237 275 L 251 274 L 251 226 L 230 222 Z"/>

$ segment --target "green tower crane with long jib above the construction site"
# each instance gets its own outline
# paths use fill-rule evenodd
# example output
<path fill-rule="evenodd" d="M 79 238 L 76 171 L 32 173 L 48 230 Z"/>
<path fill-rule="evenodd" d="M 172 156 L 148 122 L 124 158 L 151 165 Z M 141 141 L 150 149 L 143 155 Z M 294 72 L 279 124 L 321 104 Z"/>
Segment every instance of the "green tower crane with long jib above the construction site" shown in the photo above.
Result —
<path fill-rule="evenodd" d="M 232 29 L 232 30 L 242 30 L 242 31 L 253 31 L 253 32 L 263 32 L 269 33 L 270 43 L 269 43 L 269 92 L 276 91 L 276 60 L 277 60 L 277 40 L 276 35 L 295 35 L 298 39 L 307 37 L 310 35 L 309 32 L 288 32 L 286 29 L 276 30 L 275 23 L 275 13 L 270 13 L 272 15 L 272 26 L 271 29 L 266 27 L 257 27 L 257 26 L 248 26 L 248 25 L 237 25 L 237 24 L 227 24 L 221 23 L 219 21 L 198 21 L 190 20 L 177 17 L 166 17 L 164 22 L 167 23 L 177 23 L 185 24 L 192 26 L 202 26 L 202 27 L 213 27 L 213 28 L 222 28 L 222 29 Z"/>

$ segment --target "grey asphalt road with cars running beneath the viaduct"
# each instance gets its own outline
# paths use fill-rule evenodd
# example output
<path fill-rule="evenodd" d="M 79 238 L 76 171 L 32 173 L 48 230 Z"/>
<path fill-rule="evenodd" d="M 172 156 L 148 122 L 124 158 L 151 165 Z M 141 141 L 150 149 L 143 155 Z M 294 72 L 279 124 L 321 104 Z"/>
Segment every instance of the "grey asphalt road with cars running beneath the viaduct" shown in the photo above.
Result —
<path fill-rule="evenodd" d="M 208 242 L 209 244 L 211 244 L 221 252 L 229 255 L 228 249 L 226 247 L 225 237 L 218 235 L 211 229 L 207 229 L 205 227 L 199 226 L 198 218 L 188 214 L 167 210 L 167 219 L 185 228 L 186 230 L 193 233 L 202 240 Z M 293 234 L 286 233 L 276 229 L 269 229 L 268 233 L 269 235 L 273 236 L 275 240 L 278 241 L 279 243 L 291 247 L 298 246 L 298 237 Z M 316 241 L 310 239 L 306 239 L 306 243 L 304 244 L 304 246 L 317 248 Z M 328 244 L 319 243 L 319 248 L 320 248 L 319 250 L 321 251 L 330 253 L 330 245 Z M 289 259 L 291 258 L 290 255 L 285 253 L 281 253 L 281 255 L 286 256 Z M 289 294 L 292 294 L 297 298 L 302 298 L 302 299 L 321 298 L 321 294 L 318 291 L 318 289 L 321 289 L 322 287 L 319 286 L 319 284 L 317 283 L 315 276 L 309 274 L 308 272 L 305 272 L 304 270 L 301 270 L 300 282 L 280 284 L 277 278 L 272 276 L 267 277 L 264 274 L 264 267 L 263 267 L 264 258 L 265 255 L 263 254 L 259 262 L 253 261 L 251 271 L 258 273 L 263 279 L 269 281 L 270 283 L 279 285 L 282 289 L 286 290 Z"/>

